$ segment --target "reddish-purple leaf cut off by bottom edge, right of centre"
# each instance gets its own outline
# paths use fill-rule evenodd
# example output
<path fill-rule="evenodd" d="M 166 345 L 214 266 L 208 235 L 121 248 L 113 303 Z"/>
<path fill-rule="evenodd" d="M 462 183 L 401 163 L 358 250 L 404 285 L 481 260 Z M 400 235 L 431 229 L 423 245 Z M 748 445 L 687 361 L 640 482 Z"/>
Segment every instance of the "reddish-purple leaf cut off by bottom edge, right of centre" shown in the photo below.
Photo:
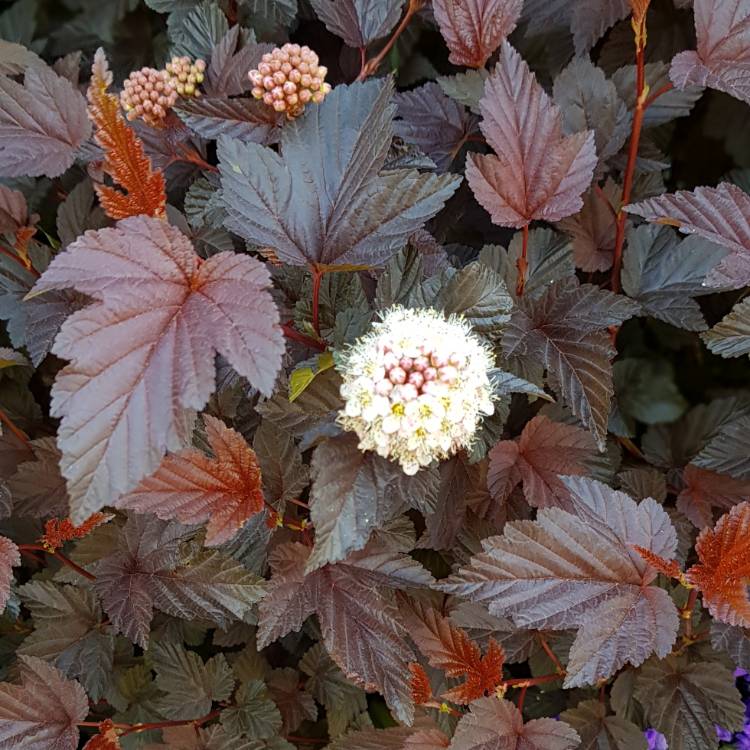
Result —
<path fill-rule="evenodd" d="M 564 721 L 524 723 L 510 701 L 480 698 L 458 722 L 450 750 L 574 750 L 580 737 Z"/>

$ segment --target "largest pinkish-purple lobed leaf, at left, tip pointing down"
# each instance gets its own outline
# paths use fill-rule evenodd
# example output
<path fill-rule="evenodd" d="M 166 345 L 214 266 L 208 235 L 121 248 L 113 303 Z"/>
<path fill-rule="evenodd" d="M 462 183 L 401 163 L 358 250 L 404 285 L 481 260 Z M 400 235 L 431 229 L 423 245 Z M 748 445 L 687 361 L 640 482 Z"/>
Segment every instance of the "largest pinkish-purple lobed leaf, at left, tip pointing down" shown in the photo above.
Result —
<path fill-rule="evenodd" d="M 70 360 L 52 389 L 72 517 L 81 521 L 183 447 L 188 409 L 214 389 L 214 355 L 270 393 L 284 343 L 268 270 L 247 255 L 202 261 L 160 219 L 87 232 L 34 289 L 73 287 L 95 301 L 63 324 Z"/>

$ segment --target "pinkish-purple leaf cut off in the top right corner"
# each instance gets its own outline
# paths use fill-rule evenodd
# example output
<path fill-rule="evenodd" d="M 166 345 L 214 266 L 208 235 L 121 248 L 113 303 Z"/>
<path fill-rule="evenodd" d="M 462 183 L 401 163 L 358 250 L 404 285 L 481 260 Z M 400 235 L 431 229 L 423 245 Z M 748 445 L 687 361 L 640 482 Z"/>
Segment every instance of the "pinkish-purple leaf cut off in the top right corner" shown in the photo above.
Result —
<path fill-rule="evenodd" d="M 750 103 L 750 2 L 695 0 L 696 50 L 680 52 L 669 76 L 677 88 L 708 86 Z"/>

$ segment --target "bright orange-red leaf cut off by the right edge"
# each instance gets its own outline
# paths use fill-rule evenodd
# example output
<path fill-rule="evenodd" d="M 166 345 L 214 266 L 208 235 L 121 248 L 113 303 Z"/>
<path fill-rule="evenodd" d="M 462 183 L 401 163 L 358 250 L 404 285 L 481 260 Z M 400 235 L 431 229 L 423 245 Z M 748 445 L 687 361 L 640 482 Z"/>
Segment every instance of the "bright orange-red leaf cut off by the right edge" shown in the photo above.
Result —
<path fill-rule="evenodd" d="M 750 503 L 735 505 L 695 543 L 698 562 L 686 573 L 717 620 L 750 628 Z"/>

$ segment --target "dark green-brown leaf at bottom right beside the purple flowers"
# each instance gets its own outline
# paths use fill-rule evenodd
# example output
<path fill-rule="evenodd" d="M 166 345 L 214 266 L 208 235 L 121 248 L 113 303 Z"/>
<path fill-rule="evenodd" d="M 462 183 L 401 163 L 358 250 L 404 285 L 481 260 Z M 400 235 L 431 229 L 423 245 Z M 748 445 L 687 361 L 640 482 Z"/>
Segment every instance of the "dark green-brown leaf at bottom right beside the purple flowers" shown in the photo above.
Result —
<path fill-rule="evenodd" d="M 745 719 L 732 672 L 720 662 L 691 663 L 685 654 L 644 664 L 634 696 L 649 726 L 666 736 L 670 750 L 715 747 L 716 724 L 739 731 Z"/>

